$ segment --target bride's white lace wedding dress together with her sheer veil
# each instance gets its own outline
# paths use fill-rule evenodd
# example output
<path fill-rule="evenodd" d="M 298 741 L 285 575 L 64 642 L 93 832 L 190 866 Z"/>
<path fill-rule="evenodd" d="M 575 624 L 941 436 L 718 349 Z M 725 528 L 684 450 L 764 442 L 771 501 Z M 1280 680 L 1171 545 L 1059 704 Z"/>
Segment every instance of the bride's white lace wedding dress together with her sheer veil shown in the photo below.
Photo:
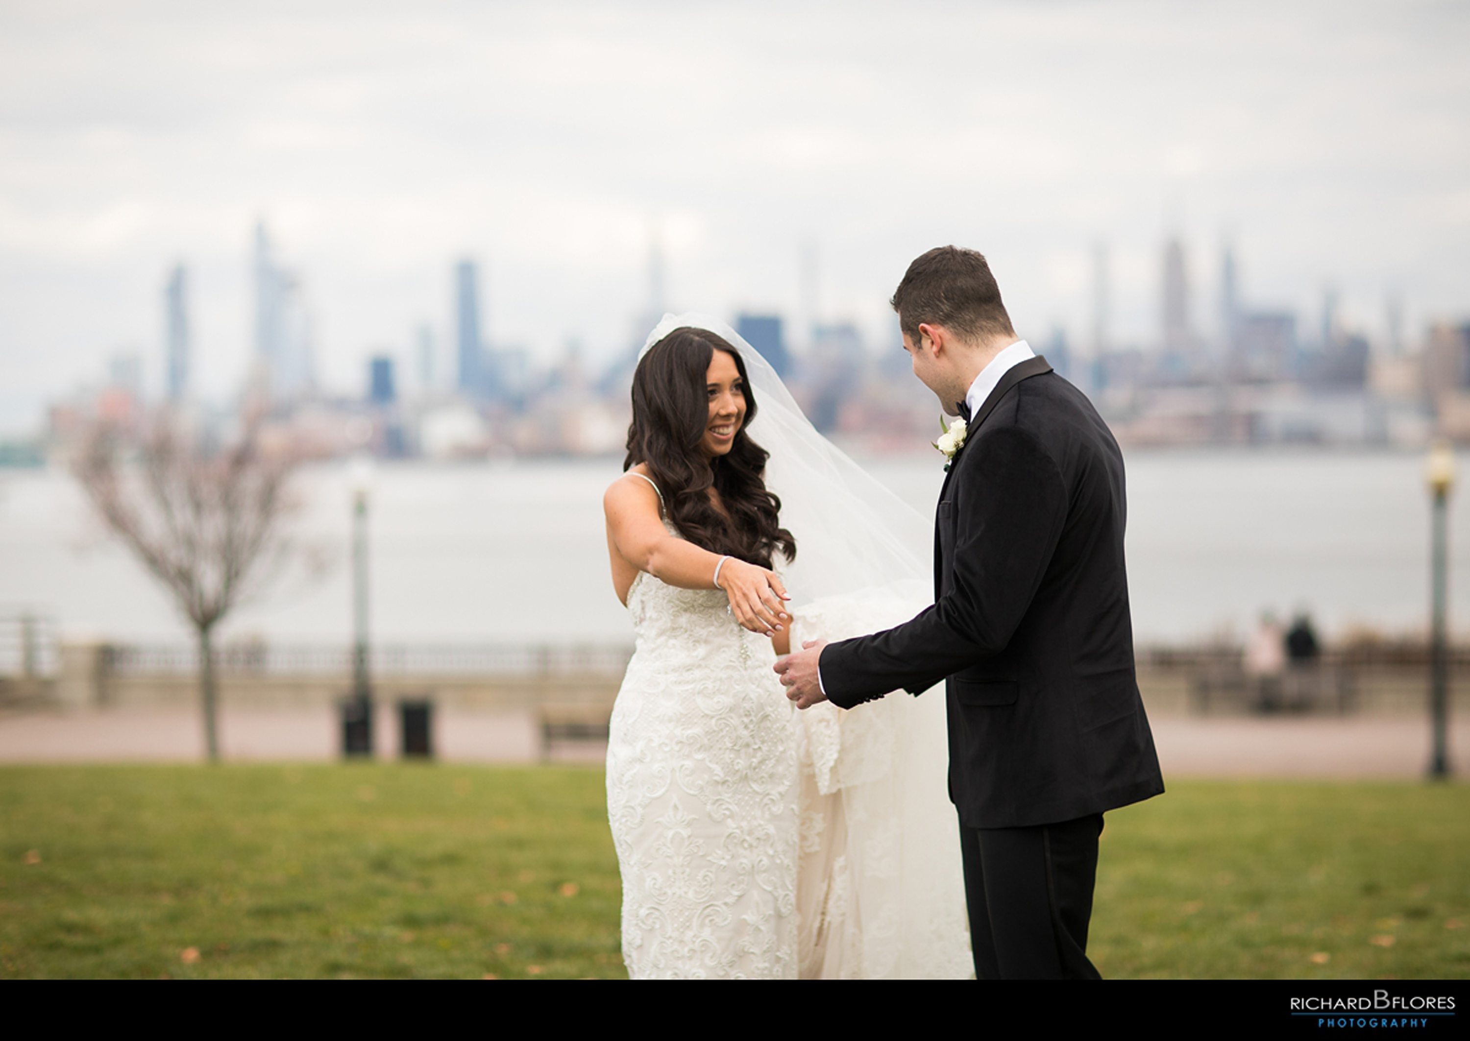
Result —
<path fill-rule="evenodd" d="M 666 316 L 648 343 L 679 325 L 744 356 L 751 435 L 798 540 L 784 570 L 792 647 L 913 618 L 929 603 L 926 522 L 816 434 L 723 322 Z M 609 728 L 607 812 L 629 975 L 973 975 L 942 691 L 798 713 L 770 641 L 726 604 L 644 572 L 628 593 L 635 651 Z"/>

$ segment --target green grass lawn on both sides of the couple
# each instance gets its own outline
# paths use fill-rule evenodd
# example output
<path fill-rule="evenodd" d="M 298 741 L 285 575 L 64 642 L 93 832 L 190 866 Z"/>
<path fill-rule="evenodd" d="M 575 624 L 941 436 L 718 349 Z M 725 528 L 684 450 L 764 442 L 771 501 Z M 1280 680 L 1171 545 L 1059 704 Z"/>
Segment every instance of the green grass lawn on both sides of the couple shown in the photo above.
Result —
<path fill-rule="evenodd" d="M 600 770 L 0 769 L 0 978 L 623 975 Z M 1470 976 L 1470 790 L 1110 813 L 1105 976 Z"/>

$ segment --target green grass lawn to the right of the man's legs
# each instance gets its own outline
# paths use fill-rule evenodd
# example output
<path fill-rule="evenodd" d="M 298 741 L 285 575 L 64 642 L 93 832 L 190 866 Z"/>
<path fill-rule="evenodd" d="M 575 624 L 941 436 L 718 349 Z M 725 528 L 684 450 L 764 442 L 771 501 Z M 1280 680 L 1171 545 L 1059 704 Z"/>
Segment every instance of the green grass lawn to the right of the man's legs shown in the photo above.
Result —
<path fill-rule="evenodd" d="M 1105 818 L 1105 976 L 1470 978 L 1470 788 L 1177 782 Z"/>

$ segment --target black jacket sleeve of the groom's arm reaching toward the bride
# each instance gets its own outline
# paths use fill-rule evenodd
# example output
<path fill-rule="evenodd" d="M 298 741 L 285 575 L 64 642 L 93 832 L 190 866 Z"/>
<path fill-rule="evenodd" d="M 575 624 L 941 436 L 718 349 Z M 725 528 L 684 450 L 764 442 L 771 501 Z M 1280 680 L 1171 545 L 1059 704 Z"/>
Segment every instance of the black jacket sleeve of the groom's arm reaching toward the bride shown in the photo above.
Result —
<path fill-rule="evenodd" d="M 828 644 L 822 685 L 844 709 L 919 693 L 1010 643 L 1061 538 L 1067 490 L 1036 438 L 1016 426 L 966 446 L 951 481 L 957 510 L 948 591 L 911 622 Z"/>

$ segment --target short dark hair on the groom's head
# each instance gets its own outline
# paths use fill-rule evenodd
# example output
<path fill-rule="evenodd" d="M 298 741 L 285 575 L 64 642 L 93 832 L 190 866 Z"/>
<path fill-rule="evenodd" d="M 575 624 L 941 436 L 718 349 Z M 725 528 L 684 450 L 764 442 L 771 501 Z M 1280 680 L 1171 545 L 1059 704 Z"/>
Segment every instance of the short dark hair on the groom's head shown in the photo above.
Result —
<path fill-rule="evenodd" d="M 898 312 L 898 328 L 914 344 L 920 322 L 942 325 L 972 343 L 1016 335 L 991 266 L 975 250 L 929 250 L 908 265 L 888 303 Z"/>

